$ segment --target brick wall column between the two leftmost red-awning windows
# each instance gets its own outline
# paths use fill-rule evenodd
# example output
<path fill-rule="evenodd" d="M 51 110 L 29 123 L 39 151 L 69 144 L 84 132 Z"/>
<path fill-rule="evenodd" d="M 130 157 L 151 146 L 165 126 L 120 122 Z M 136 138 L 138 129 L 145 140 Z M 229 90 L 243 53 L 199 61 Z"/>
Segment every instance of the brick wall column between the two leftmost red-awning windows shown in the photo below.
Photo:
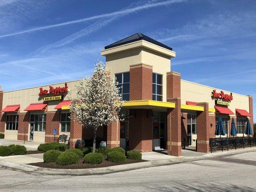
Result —
<path fill-rule="evenodd" d="M 24 141 L 29 140 L 29 113 L 20 113 L 19 114 L 19 126 L 18 126 L 18 140 Z"/>

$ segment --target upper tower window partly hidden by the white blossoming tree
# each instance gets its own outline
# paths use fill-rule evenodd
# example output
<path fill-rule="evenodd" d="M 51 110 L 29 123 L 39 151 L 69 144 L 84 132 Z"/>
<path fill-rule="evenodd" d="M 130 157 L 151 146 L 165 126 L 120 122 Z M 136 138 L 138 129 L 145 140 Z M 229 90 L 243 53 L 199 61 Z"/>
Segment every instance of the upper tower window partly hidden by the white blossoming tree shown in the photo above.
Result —
<path fill-rule="evenodd" d="M 122 96 L 122 101 L 129 101 L 130 99 L 130 72 L 123 72 L 116 74 L 117 87 L 119 94 Z"/>

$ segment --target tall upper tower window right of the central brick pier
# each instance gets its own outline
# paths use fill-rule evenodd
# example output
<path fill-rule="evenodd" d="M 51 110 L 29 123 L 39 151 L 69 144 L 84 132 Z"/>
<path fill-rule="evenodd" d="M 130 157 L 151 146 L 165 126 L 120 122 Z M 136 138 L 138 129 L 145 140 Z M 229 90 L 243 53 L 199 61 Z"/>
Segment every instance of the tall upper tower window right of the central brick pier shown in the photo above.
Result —
<path fill-rule="evenodd" d="M 163 75 L 153 73 L 152 75 L 152 100 L 163 100 Z"/>

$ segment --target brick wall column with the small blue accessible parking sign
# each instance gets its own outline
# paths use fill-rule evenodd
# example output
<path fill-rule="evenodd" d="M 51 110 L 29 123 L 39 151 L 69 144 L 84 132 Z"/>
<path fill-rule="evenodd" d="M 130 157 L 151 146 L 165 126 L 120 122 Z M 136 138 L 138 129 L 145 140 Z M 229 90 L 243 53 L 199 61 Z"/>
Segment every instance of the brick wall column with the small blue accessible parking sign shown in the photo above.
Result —
<path fill-rule="evenodd" d="M 46 114 L 45 143 L 54 142 L 53 130 L 57 129 L 55 137 L 60 135 L 60 111 Z"/>

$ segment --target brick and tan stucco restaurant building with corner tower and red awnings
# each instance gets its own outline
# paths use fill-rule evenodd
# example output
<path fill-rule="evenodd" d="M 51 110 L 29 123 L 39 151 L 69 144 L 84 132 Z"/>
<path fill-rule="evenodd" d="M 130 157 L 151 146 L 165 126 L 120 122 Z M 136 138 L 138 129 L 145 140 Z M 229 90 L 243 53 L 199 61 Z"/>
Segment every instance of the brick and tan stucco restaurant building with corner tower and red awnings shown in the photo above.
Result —
<path fill-rule="evenodd" d="M 148 36 L 136 33 L 106 46 L 101 55 L 125 100 L 124 120 L 98 129 L 98 137 L 110 147 L 167 149 L 168 155 L 181 156 L 183 140 L 196 140 L 196 150 L 207 153 L 218 117 L 228 136 L 232 118 L 237 136 L 243 134 L 246 118 L 253 128 L 252 96 L 182 80 L 180 73 L 171 71 L 176 53 Z M 52 142 L 66 134 L 70 147 L 78 139 L 91 139 L 92 130 L 68 118 L 68 98 L 75 96 L 78 82 L 0 91 L 0 133 L 5 139 L 36 142 Z"/>

